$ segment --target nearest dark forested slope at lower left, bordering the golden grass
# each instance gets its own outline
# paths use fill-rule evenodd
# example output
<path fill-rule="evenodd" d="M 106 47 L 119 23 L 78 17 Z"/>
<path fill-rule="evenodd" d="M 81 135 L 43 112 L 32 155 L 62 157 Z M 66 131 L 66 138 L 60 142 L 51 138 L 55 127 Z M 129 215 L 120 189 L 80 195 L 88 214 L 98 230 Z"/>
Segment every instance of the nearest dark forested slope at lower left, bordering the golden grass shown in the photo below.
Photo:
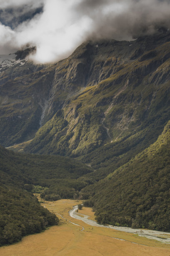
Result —
<path fill-rule="evenodd" d="M 0 246 L 58 223 L 56 215 L 43 208 L 31 193 L 14 186 L 0 186 Z"/>

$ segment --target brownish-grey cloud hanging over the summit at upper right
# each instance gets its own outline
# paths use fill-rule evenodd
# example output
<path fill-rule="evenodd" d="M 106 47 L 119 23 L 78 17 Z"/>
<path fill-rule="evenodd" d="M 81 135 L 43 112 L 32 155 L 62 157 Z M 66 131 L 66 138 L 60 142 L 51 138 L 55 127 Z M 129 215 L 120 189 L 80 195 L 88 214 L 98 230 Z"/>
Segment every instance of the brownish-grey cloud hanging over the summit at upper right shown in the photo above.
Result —
<path fill-rule="evenodd" d="M 170 27 L 170 0 L 83 0 L 77 13 L 95 20 L 92 35 L 128 39 Z"/>

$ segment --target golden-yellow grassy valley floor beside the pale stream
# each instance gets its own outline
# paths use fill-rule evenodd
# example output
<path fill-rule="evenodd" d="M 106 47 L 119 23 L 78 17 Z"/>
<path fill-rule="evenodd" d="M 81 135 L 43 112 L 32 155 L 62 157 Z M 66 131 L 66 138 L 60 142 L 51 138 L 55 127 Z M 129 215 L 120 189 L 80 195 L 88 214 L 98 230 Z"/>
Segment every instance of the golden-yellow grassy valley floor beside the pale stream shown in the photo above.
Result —
<path fill-rule="evenodd" d="M 45 232 L 30 235 L 19 243 L 0 248 L 3 256 L 170 256 L 170 245 L 142 238 L 108 228 L 92 227 L 81 220 L 73 219 L 68 211 L 81 203 L 76 200 L 58 200 L 42 203 L 60 218 L 60 225 L 53 226 Z M 90 215 L 90 208 L 78 210 L 79 214 Z M 60 216 L 62 215 L 62 217 Z M 77 225 L 74 225 L 75 223 Z M 82 230 L 82 226 L 84 230 Z M 123 240 L 119 240 L 123 239 Z"/>

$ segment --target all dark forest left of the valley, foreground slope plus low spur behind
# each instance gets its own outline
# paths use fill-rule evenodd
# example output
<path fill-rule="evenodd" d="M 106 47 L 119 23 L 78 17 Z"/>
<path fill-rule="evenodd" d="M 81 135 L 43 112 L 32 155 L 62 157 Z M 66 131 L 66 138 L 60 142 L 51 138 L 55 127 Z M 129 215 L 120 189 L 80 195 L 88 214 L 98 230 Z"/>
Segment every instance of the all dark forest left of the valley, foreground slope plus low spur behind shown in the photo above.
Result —
<path fill-rule="evenodd" d="M 59 223 L 32 192 L 45 191 L 47 200 L 59 199 L 57 193 L 72 198 L 85 186 L 76 179 L 91 171 L 74 159 L 16 154 L 0 146 L 0 245 Z"/>

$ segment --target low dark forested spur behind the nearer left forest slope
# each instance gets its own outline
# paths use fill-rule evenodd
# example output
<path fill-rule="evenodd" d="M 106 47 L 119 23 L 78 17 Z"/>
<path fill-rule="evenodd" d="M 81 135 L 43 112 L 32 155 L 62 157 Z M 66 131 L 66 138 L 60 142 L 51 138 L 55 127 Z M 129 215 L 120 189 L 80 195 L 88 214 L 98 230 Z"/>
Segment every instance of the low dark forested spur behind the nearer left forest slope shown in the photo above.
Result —
<path fill-rule="evenodd" d="M 1 182 L 15 182 L 29 191 L 26 184 L 39 185 L 42 187 L 41 190 L 39 187 L 40 192 L 45 192 L 46 195 L 59 194 L 62 198 L 72 198 L 77 190 L 88 184 L 77 181 L 77 178 L 92 172 L 87 165 L 68 157 L 16 154 L 2 147 L 0 149 Z M 31 190 L 37 192 L 36 187 Z"/>

